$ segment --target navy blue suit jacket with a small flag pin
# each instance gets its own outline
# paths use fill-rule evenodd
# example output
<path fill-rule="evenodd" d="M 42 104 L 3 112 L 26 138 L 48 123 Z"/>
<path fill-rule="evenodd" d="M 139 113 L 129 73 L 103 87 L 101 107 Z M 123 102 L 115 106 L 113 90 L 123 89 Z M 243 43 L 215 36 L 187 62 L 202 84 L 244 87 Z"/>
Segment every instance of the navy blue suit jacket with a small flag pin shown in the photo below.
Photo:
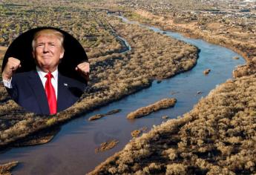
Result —
<path fill-rule="evenodd" d="M 36 70 L 16 73 L 8 93 L 24 109 L 38 114 L 50 114 L 44 86 Z M 75 79 L 58 75 L 57 112 L 73 105 L 85 90 L 86 85 Z"/>

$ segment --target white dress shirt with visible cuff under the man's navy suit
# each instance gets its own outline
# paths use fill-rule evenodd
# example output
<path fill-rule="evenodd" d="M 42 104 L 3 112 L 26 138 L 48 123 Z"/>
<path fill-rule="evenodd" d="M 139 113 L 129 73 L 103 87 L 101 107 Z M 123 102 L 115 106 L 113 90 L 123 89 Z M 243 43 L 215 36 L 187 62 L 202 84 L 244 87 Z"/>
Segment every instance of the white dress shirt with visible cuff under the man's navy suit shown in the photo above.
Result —
<path fill-rule="evenodd" d="M 45 77 L 47 75 L 47 73 L 45 73 L 44 71 L 42 71 L 39 67 L 36 66 L 36 71 L 37 73 L 39 73 L 39 77 L 41 79 L 42 85 L 45 88 L 45 82 L 47 80 L 47 78 Z M 58 96 L 58 69 L 56 69 L 55 71 L 53 71 L 51 73 L 53 75 L 53 78 L 51 79 L 51 84 L 53 85 L 53 88 L 55 90 L 55 94 L 56 94 L 56 98 Z M 11 84 L 12 79 L 10 79 L 9 81 L 6 79 L 3 79 L 4 82 L 4 86 L 8 87 L 8 88 L 12 88 L 12 84 Z"/>

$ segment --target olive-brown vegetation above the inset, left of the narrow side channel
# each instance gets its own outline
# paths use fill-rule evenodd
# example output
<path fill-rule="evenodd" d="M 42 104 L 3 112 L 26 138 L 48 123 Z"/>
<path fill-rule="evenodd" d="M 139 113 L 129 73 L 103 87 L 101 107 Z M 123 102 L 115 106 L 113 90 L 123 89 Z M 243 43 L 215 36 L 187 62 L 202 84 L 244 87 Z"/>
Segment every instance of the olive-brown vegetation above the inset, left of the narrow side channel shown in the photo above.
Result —
<path fill-rule="evenodd" d="M 113 36 L 111 25 L 105 20 L 105 13 L 89 8 L 86 3 L 55 1 L 46 4 L 45 1 L 1 3 L 0 45 L 9 46 L 17 36 L 31 28 L 50 26 L 59 27 L 78 39 L 89 58 L 122 49 L 122 44 Z"/>

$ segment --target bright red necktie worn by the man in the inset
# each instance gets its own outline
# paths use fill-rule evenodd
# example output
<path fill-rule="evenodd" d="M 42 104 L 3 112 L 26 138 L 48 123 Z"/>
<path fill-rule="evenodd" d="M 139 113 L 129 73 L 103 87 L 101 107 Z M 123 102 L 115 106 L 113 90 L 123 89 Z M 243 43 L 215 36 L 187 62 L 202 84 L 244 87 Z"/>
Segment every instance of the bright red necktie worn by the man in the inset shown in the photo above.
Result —
<path fill-rule="evenodd" d="M 54 87 L 50 81 L 50 79 L 53 78 L 53 75 L 49 72 L 45 77 L 47 78 L 45 82 L 45 93 L 48 100 L 50 114 L 54 114 L 57 113 L 57 100 Z"/>

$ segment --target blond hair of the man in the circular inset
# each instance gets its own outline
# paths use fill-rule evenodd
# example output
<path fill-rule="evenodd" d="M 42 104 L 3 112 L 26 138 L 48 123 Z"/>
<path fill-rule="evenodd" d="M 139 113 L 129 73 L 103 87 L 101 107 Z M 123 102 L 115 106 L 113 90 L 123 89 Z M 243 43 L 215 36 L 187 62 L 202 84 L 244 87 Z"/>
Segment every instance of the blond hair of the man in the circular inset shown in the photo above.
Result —
<path fill-rule="evenodd" d="M 33 41 L 32 41 L 33 50 L 35 50 L 36 39 L 39 36 L 56 36 L 59 39 L 59 42 L 61 43 L 62 49 L 64 50 L 64 46 L 63 46 L 64 35 L 55 29 L 43 29 L 36 32 L 35 35 L 33 36 Z"/>

